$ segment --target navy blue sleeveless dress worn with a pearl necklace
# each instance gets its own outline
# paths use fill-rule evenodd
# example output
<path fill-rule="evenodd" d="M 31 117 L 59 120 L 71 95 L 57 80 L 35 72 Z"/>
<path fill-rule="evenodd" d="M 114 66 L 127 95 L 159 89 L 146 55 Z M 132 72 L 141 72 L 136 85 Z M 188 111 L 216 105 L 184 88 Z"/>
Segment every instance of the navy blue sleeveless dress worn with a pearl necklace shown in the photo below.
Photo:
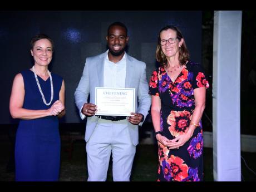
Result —
<path fill-rule="evenodd" d="M 62 77 L 51 73 L 53 100 L 50 106 L 43 103 L 35 75 L 31 70 L 21 72 L 24 81 L 24 109 L 46 110 L 59 99 Z M 46 102 L 51 99 L 50 77 L 38 81 Z M 46 116 L 33 120 L 20 120 L 15 145 L 16 181 L 57 181 L 60 170 L 60 133 L 58 117 Z"/>

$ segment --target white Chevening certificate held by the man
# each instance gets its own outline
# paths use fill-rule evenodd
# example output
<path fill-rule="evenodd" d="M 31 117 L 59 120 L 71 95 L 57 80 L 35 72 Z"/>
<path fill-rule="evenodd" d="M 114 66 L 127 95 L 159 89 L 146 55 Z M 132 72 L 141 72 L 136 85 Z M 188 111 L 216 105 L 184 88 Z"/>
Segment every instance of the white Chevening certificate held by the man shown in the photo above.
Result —
<path fill-rule="evenodd" d="M 95 87 L 95 115 L 131 116 L 135 112 L 135 88 Z"/>

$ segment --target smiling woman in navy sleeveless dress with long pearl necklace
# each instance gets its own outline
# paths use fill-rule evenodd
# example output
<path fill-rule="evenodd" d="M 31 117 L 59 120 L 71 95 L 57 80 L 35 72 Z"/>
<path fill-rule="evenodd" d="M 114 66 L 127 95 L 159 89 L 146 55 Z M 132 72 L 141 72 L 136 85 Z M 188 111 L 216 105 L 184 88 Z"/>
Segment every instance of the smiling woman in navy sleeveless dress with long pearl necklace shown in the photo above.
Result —
<path fill-rule="evenodd" d="M 58 117 L 65 115 L 65 84 L 48 71 L 53 41 L 40 34 L 31 40 L 32 68 L 14 77 L 9 109 L 19 120 L 16 134 L 16 181 L 57 181 L 60 170 Z"/>

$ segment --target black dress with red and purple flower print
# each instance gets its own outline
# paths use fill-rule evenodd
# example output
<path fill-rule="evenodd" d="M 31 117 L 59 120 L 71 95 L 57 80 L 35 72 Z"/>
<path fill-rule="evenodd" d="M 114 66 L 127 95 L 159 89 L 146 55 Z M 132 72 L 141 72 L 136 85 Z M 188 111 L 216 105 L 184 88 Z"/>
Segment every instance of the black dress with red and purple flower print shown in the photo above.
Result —
<path fill-rule="evenodd" d="M 163 67 L 152 72 L 150 95 L 161 99 L 160 128 L 168 139 L 188 131 L 195 109 L 194 89 L 209 83 L 203 68 L 191 61 L 175 82 Z M 193 136 L 179 149 L 169 149 L 158 142 L 159 167 L 157 181 L 203 181 L 203 129 L 201 121 Z"/>

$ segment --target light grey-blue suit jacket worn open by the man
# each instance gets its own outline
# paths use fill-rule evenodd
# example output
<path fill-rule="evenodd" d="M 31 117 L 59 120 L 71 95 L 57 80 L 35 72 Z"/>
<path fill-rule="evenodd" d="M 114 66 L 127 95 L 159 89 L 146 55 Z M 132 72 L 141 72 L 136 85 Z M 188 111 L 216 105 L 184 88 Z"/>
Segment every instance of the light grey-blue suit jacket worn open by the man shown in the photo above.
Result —
<path fill-rule="evenodd" d="M 75 102 L 78 110 L 81 110 L 83 104 L 87 103 L 89 94 L 90 103 L 95 104 L 95 87 L 104 86 L 104 59 L 106 58 L 106 54 L 107 51 L 101 55 L 88 57 L 86 59 L 81 80 L 75 91 Z M 146 64 L 127 54 L 125 87 L 135 88 L 135 112 L 143 114 L 146 118 L 151 105 L 151 96 L 148 93 L 149 84 L 146 79 Z M 138 102 L 139 105 L 137 105 Z M 99 117 L 97 116 L 91 116 L 87 118 L 85 132 L 86 142 L 90 139 L 90 136 L 95 129 L 98 120 Z M 138 126 L 129 122 L 129 133 L 132 143 L 137 145 L 139 143 Z"/>

